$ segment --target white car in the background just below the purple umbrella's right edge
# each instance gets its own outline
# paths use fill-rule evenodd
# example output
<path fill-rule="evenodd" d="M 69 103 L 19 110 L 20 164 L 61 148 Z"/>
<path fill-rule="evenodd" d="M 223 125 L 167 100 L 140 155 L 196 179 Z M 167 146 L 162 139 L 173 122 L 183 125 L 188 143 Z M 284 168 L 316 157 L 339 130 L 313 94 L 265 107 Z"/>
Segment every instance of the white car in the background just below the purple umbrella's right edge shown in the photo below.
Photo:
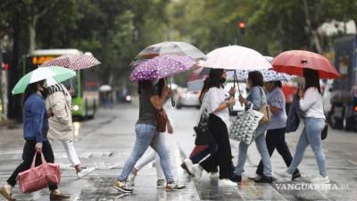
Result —
<path fill-rule="evenodd" d="M 178 88 L 177 91 L 176 107 L 178 109 L 184 106 L 200 108 L 200 91 L 188 91 L 187 88 Z"/>

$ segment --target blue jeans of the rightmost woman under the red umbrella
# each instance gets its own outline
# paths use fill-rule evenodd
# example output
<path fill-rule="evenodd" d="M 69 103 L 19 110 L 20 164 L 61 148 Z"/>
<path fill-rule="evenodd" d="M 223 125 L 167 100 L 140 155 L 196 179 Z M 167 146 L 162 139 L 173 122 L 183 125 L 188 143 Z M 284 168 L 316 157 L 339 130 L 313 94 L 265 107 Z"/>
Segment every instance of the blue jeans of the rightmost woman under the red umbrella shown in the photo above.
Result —
<path fill-rule="evenodd" d="M 297 142 L 295 155 L 287 172 L 295 172 L 296 168 L 303 161 L 303 153 L 305 152 L 306 147 L 310 144 L 319 166 L 320 175 L 326 177 L 326 159 L 321 147 L 321 131 L 325 126 L 325 121 L 323 119 L 307 117 L 303 119 L 303 122 L 305 127 Z"/>

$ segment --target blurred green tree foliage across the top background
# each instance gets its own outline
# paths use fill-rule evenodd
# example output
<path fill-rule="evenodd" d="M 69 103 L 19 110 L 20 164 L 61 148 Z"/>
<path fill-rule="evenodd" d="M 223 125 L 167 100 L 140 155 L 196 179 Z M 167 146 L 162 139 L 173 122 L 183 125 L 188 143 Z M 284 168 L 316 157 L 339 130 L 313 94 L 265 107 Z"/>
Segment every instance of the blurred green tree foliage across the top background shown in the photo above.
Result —
<path fill-rule="evenodd" d="M 205 53 L 233 44 L 272 56 L 287 49 L 325 51 L 333 38 L 316 34 L 322 23 L 357 20 L 355 0 L 2 0 L 0 10 L 0 39 L 18 44 L 8 50 L 27 53 L 29 20 L 37 16 L 37 48 L 92 52 L 103 63 L 95 69 L 101 80 L 118 85 L 128 80 L 140 50 L 165 40 L 186 41 Z M 239 21 L 246 23 L 244 36 Z M 185 74 L 176 81 L 184 85 Z"/>

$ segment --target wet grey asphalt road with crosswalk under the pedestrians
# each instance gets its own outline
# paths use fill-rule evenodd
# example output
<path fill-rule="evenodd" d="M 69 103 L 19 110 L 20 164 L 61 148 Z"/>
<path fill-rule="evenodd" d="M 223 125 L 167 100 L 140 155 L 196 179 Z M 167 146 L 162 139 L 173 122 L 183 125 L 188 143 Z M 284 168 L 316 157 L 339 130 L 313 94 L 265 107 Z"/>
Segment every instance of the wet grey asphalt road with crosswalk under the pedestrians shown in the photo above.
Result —
<path fill-rule="evenodd" d="M 121 168 L 128 157 L 135 135 L 137 119 L 136 104 L 116 105 L 112 110 L 101 109 L 95 120 L 76 122 L 76 147 L 81 162 L 85 166 L 95 166 L 92 174 L 78 180 L 74 169 L 66 158 L 62 144 L 53 143 L 56 163 L 62 164 L 62 183 L 60 189 L 71 194 L 71 200 L 357 200 L 357 133 L 329 130 L 323 142 L 327 157 L 329 187 L 309 186 L 307 182 L 287 181 L 276 175 L 273 184 L 254 184 L 247 177 L 255 172 L 260 156 L 254 147 L 249 148 L 248 161 L 242 185 L 212 179 L 203 173 L 201 182 L 192 180 L 179 167 L 182 158 L 194 147 L 193 126 L 198 115 L 194 108 L 177 110 L 169 108 L 168 113 L 174 125 L 174 135 L 167 136 L 171 165 L 175 178 L 187 185 L 177 192 L 166 192 L 156 188 L 156 171 L 148 165 L 137 176 L 133 194 L 120 194 L 112 188 Z M 23 139 L 21 129 L 0 130 L 0 184 L 4 184 L 18 163 L 21 163 Z M 289 147 L 295 152 L 299 133 L 286 134 Z M 236 141 L 231 141 L 234 163 L 237 163 Z M 274 172 L 286 169 L 285 163 L 275 153 L 272 156 Z M 311 148 L 305 152 L 299 167 L 307 175 L 318 172 Z M 327 189 L 328 188 L 328 189 Z M 15 188 L 17 200 L 49 200 L 47 189 L 23 195 Z M 2 200 L 2 197 L 0 198 Z"/>

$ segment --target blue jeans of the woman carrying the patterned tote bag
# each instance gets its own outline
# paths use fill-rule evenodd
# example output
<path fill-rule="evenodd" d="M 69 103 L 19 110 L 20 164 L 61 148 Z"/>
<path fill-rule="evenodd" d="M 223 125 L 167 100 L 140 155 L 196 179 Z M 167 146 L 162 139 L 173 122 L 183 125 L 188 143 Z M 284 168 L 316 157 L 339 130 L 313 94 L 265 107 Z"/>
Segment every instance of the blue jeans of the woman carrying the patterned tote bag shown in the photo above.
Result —
<path fill-rule="evenodd" d="M 257 129 L 256 137 L 254 138 L 255 145 L 262 156 L 262 163 L 264 164 L 263 174 L 265 176 L 271 177 L 271 162 L 270 155 L 267 148 L 267 143 L 265 142 L 264 132 L 267 125 L 259 126 Z M 238 163 L 235 170 L 236 175 L 242 175 L 245 172 L 245 160 L 249 145 L 244 142 L 239 142 L 239 153 L 238 153 Z"/>

